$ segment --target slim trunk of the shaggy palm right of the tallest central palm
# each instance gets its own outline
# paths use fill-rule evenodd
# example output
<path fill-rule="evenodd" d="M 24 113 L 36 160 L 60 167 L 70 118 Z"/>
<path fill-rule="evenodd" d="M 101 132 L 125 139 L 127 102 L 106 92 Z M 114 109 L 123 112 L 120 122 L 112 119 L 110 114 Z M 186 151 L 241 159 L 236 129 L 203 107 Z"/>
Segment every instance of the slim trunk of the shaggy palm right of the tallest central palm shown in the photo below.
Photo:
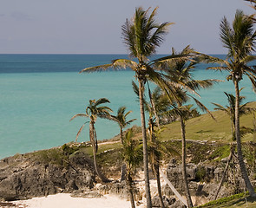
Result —
<path fill-rule="evenodd" d="M 188 182 L 187 182 L 185 123 L 182 116 L 180 116 L 180 119 L 181 119 L 181 137 L 182 137 L 182 176 L 184 181 L 185 194 L 187 198 L 187 205 L 188 207 L 193 207 L 192 199 L 191 199 L 189 188 L 188 188 Z"/>

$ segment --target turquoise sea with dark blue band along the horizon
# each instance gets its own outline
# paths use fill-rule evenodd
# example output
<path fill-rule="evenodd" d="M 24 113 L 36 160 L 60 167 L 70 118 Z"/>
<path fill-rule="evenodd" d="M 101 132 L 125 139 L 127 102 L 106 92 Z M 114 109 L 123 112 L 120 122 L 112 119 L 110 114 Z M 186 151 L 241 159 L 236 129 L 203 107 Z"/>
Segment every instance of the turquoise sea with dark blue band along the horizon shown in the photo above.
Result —
<path fill-rule="evenodd" d="M 84 113 L 93 99 L 108 98 L 114 111 L 126 106 L 133 111 L 129 118 L 137 118 L 134 124 L 140 126 L 139 103 L 131 87 L 133 71 L 78 74 L 82 68 L 116 58 L 127 55 L 0 55 L 0 159 L 75 140 L 85 120 L 69 119 Z M 194 78 L 225 80 L 225 74 L 206 67 L 196 68 Z M 249 81 L 245 79 L 241 86 L 246 87 L 242 91 L 246 101 L 255 101 Z M 211 102 L 226 105 L 224 91 L 233 93 L 233 83 L 225 81 L 202 90 L 200 101 L 211 110 Z M 119 133 L 119 127 L 108 120 L 98 119 L 95 128 L 99 140 Z M 78 140 L 89 140 L 88 127 Z"/>

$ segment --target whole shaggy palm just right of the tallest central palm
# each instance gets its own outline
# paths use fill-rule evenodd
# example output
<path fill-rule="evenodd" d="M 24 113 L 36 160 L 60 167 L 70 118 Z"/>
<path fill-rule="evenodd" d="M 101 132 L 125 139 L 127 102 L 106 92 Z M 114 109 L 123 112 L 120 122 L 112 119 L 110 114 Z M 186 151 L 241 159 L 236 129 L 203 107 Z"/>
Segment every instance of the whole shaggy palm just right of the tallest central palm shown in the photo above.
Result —
<path fill-rule="evenodd" d="M 194 49 L 191 49 L 187 46 L 177 53 L 173 49 L 173 55 L 191 55 L 194 54 Z M 173 106 L 173 109 L 170 110 L 169 114 L 176 114 L 179 117 L 181 122 L 181 139 L 182 139 L 182 176 L 184 181 L 184 188 L 187 197 L 188 207 L 193 207 L 191 195 L 188 188 L 187 182 L 187 171 L 186 171 L 186 131 L 185 131 L 185 120 L 192 114 L 192 105 L 185 105 L 189 99 L 192 99 L 195 104 L 200 107 L 201 110 L 209 112 L 207 107 L 205 107 L 200 101 L 198 101 L 194 96 L 189 94 L 192 92 L 198 94 L 196 91 L 200 88 L 210 88 L 218 80 L 194 80 L 192 71 L 195 68 L 195 65 L 198 63 L 196 58 L 187 62 L 186 60 L 180 60 L 177 62 L 171 62 L 166 66 L 163 66 L 167 73 L 168 81 L 171 82 L 171 85 L 174 85 L 174 91 L 178 99 L 170 98 L 170 104 Z M 180 83 L 181 86 L 175 85 L 175 83 Z M 199 94 L 198 94 L 199 95 Z M 212 116 L 212 114 L 211 114 Z M 212 116 L 213 117 L 213 116 Z"/>

